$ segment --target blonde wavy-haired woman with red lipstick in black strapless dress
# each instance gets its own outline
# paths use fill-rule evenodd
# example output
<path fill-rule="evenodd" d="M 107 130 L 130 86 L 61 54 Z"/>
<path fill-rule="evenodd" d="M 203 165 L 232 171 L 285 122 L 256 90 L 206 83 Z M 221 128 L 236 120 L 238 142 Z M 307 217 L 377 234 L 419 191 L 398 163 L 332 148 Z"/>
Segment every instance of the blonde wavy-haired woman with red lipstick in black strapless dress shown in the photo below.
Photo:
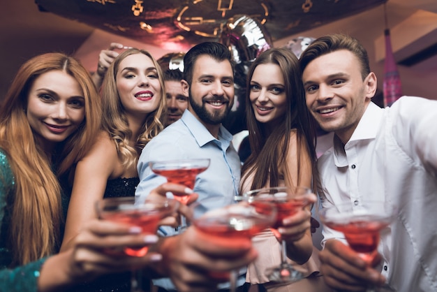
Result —
<path fill-rule="evenodd" d="M 62 251 L 96 218 L 96 200 L 134 196 L 139 182 L 138 156 L 163 129 L 163 75 L 149 52 L 135 48 L 121 52 L 110 64 L 101 90 L 103 126 L 96 143 L 77 163 Z M 97 289 L 107 286 L 110 291 L 123 291 L 128 283 L 128 275 L 108 277 Z"/>

